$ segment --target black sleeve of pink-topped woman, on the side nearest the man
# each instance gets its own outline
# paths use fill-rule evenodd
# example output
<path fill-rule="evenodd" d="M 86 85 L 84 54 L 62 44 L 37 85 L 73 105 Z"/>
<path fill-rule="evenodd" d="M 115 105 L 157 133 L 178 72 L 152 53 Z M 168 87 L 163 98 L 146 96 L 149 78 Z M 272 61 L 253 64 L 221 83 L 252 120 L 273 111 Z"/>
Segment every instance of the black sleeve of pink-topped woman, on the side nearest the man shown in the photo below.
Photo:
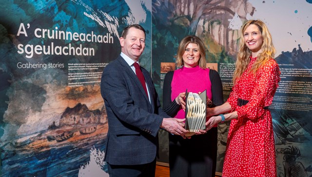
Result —
<path fill-rule="evenodd" d="M 162 109 L 170 117 L 176 116 L 176 113 L 179 111 L 180 105 L 176 103 L 176 100 L 171 101 L 171 82 L 174 77 L 174 71 L 169 71 L 165 75 L 163 93 L 162 93 Z"/>

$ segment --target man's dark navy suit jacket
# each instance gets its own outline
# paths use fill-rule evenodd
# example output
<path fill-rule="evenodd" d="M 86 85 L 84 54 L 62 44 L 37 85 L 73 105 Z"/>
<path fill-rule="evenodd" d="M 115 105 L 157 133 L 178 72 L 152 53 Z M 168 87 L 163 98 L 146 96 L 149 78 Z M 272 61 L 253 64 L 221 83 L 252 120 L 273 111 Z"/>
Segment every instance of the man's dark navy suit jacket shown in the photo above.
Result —
<path fill-rule="evenodd" d="M 105 161 L 112 165 L 152 162 L 158 151 L 162 111 L 150 73 L 142 69 L 151 97 L 146 96 L 136 74 L 119 56 L 103 70 L 101 95 L 108 117 Z"/>

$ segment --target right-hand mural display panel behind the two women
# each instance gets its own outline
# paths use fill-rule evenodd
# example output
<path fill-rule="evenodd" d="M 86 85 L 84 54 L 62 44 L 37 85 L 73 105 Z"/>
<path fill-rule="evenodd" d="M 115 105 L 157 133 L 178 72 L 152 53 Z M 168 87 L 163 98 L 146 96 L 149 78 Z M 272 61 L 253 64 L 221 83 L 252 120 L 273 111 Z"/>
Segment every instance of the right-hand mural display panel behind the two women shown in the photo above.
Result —
<path fill-rule="evenodd" d="M 178 43 L 196 35 L 206 45 L 207 67 L 220 74 L 225 100 L 232 89 L 240 27 L 246 20 L 263 20 L 277 49 L 275 59 L 281 82 L 269 107 L 273 116 L 277 174 L 279 177 L 312 175 L 312 2 L 292 0 L 152 0 L 153 68 L 162 97 L 165 74 L 175 70 Z M 217 169 L 223 167 L 229 122 L 218 126 Z M 159 133 L 158 163 L 168 163 L 168 134 Z"/>

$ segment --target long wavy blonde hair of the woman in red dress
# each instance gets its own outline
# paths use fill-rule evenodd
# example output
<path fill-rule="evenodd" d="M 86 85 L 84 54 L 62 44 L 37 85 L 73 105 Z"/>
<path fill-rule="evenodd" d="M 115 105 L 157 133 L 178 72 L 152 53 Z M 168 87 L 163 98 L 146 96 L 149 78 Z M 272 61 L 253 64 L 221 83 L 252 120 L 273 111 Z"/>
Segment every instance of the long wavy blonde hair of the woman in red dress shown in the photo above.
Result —
<path fill-rule="evenodd" d="M 267 62 L 269 59 L 274 58 L 275 48 L 273 46 L 272 36 L 267 26 L 261 20 L 248 20 L 241 28 L 240 47 L 235 64 L 236 69 L 233 74 L 234 84 L 247 69 L 247 66 L 250 62 L 250 56 L 252 55 L 252 51 L 249 50 L 249 48 L 246 46 L 244 40 L 244 32 L 246 31 L 246 28 L 251 24 L 255 24 L 256 26 L 258 26 L 259 31 L 262 34 L 263 43 L 261 46 L 262 52 L 258 54 L 257 59 L 252 66 L 250 72 L 253 72 L 255 74 L 255 72 L 261 67 L 261 65 Z"/>

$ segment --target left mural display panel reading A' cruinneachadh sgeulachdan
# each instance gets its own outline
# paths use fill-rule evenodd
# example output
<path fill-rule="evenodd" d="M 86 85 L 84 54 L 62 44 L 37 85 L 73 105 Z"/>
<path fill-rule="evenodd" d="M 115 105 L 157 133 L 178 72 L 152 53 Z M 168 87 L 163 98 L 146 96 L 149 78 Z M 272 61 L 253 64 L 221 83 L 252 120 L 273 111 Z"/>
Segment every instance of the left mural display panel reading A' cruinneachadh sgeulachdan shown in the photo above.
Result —
<path fill-rule="evenodd" d="M 104 177 L 103 68 L 128 24 L 146 30 L 150 0 L 0 2 L 0 176 Z"/>

